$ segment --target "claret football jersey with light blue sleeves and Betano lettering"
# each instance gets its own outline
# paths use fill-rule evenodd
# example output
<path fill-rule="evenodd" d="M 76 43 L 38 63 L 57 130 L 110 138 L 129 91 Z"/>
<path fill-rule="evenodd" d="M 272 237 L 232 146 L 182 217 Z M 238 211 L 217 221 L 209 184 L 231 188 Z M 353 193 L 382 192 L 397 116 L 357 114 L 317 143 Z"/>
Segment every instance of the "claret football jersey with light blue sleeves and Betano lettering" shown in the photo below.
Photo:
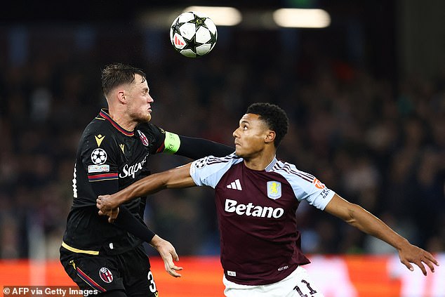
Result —
<path fill-rule="evenodd" d="M 276 158 L 265 170 L 235 154 L 196 160 L 190 176 L 215 189 L 220 257 L 237 284 L 279 282 L 310 261 L 300 249 L 295 211 L 301 201 L 324 210 L 334 192 L 317 178 Z"/>

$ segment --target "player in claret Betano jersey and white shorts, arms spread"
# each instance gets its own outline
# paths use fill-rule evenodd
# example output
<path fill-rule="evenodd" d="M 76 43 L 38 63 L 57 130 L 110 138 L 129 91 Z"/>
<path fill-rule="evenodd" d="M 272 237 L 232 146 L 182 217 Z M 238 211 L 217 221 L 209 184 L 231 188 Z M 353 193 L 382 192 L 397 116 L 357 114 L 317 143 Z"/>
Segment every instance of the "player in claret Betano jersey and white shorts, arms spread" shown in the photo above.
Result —
<path fill-rule="evenodd" d="M 323 296 L 302 267 L 310 263 L 300 249 L 295 219 L 303 200 L 391 244 L 410 270 L 415 263 L 426 275 L 425 263 L 434 272 L 434 264 L 438 264 L 430 253 L 413 246 L 314 176 L 277 159 L 277 147 L 287 129 L 288 120 L 281 108 L 255 103 L 233 133 L 233 154 L 205 157 L 99 197 L 100 213 L 113 220 L 119 204 L 163 188 L 214 187 L 225 296 L 230 297 Z"/>

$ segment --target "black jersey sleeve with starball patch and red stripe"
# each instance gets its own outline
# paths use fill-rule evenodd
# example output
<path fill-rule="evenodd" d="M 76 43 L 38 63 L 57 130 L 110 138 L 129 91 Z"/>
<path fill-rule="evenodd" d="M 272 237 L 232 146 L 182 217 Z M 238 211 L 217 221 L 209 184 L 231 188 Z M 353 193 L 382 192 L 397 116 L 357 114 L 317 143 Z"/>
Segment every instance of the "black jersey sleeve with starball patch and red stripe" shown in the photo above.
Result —
<path fill-rule="evenodd" d="M 112 194 L 119 190 L 117 145 L 109 135 L 86 136 L 81 150 L 81 163 L 94 194 Z"/>

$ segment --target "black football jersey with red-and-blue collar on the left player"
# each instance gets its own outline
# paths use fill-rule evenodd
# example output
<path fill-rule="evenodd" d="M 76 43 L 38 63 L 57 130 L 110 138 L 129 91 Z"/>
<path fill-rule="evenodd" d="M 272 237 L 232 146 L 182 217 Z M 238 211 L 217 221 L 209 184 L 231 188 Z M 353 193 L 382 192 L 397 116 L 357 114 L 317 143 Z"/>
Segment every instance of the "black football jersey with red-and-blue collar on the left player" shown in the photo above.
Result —
<path fill-rule="evenodd" d="M 74 166 L 73 204 L 67 218 L 62 246 L 79 253 L 122 253 L 141 244 L 126 230 L 98 216 L 96 199 L 112 194 L 150 175 L 151 154 L 164 150 L 166 132 L 154 124 L 126 131 L 101 110 L 81 136 Z M 124 204 L 143 220 L 145 197 Z"/>

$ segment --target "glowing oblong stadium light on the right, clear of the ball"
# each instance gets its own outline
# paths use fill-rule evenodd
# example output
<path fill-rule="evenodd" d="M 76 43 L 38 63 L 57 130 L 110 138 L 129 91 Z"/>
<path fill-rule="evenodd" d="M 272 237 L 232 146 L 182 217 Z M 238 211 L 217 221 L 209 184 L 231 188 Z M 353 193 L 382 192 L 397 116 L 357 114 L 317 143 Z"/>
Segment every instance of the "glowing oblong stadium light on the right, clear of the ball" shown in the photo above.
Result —
<path fill-rule="evenodd" d="M 331 16 L 323 9 L 280 8 L 273 13 L 274 22 L 287 28 L 325 28 Z"/>

